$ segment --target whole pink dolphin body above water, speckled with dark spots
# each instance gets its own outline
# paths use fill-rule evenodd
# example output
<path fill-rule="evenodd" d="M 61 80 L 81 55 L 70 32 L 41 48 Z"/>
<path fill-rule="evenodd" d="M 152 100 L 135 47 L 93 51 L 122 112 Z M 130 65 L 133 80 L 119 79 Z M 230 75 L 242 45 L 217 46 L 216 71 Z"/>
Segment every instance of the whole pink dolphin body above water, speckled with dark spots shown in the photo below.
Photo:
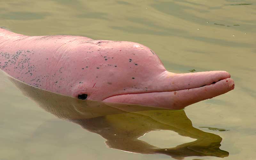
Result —
<path fill-rule="evenodd" d="M 228 72 L 176 74 L 142 44 L 83 36 L 24 36 L 0 28 L 0 62 L 26 84 L 104 102 L 182 109 L 234 89 Z"/>

